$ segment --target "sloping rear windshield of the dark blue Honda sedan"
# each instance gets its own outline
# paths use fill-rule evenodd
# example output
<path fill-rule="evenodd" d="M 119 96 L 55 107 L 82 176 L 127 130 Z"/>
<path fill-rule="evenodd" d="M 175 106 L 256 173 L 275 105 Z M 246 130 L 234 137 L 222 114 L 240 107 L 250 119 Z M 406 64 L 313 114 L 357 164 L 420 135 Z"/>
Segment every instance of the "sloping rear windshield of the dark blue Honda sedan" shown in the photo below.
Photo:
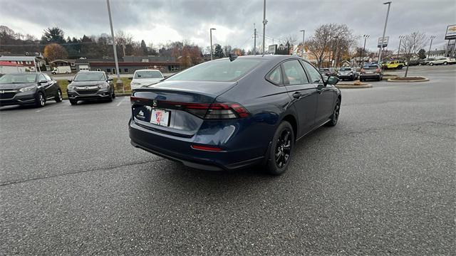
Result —
<path fill-rule="evenodd" d="M 208 61 L 192 68 L 177 73 L 167 80 L 175 81 L 215 81 L 227 82 L 242 78 L 255 68 L 261 60 L 242 59 L 229 61 L 229 59 Z"/>

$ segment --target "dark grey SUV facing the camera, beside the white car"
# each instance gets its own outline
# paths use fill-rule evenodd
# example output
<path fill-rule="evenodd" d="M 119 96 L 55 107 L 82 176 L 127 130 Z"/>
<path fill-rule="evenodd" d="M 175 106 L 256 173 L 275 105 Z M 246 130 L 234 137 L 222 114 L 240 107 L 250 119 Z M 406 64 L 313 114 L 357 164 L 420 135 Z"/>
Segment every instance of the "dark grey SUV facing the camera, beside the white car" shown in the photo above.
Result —
<path fill-rule="evenodd" d="M 68 100 L 76 105 L 78 100 L 108 100 L 115 98 L 113 80 L 103 71 L 80 71 L 66 88 Z"/>

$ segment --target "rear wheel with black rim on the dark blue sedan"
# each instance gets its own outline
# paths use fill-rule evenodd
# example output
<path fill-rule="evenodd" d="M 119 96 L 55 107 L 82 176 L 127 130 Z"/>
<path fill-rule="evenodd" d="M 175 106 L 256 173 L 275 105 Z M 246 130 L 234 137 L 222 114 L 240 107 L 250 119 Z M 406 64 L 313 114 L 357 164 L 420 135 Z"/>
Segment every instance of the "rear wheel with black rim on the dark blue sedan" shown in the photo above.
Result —
<path fill-rule="evenodd" d="M 294 148 L 294 132 L 289 122 L 277 127 L 269 150 L 266 172 L 271 175 L 283 174 L 290 164 Z"/>

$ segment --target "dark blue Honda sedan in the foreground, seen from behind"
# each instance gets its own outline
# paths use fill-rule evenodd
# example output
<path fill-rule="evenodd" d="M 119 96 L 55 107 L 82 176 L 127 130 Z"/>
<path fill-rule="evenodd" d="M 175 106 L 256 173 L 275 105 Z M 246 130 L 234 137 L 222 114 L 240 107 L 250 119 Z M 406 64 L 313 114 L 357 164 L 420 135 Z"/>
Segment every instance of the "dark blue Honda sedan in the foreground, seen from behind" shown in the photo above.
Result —
<path fill-rule="evenodd" d="M 197 169 L 281 174 L 296 140 L 337 124 L 337 82 L 297 56 L 211 60 L 133 91 L 131 144 Z"/>

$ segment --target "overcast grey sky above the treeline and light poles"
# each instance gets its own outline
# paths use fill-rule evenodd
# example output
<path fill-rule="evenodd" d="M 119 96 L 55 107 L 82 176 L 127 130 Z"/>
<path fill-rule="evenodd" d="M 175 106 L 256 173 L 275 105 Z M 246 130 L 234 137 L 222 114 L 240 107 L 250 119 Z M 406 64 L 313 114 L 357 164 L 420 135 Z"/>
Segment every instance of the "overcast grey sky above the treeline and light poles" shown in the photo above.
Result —
<path fill-rule="evenodd" d="M 115 31 L 123 30 L 135 41 L 144 39 L 155 46 L 186 39 L 205 48 L 209 28 L 217 28 L 213 43 L 248 49 L 253 48 L 254 23 L 262 33 L 262 0 L 110 0 L 110 5 Z M 366 48 L 375 49 L 386 11 L 387 5 L 375 0 L 266 0 L 266 45 L 272 43 L 270 38 L 276 43 L 289 35 L 301 41 L 300 30 L 305 29 L 308 38 L 323 23 L 345 23 L 360 36 L 360 46 L 363 34 L 370 34 Z M 455 23 L 455 0 L 393 0 L 386 29 L 388 48 L 398 48 L 400 35 L 422 31 L 437 36 L 432 49 L 440 49 L 446 42 L 447 25 Z M 0 25 L 37 38 L 51 26 L 62 28 L 65 37 L 110 33 L 105 0 L 0 0 Z"/>

